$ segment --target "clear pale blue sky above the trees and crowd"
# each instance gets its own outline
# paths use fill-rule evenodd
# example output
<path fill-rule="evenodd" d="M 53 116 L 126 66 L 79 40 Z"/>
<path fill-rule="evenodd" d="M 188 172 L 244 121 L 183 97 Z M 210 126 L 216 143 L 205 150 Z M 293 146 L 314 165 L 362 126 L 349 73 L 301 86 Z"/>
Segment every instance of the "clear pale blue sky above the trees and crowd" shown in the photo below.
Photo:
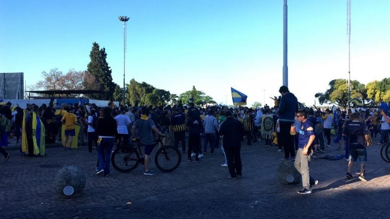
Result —
<path fill-rule="evenodd" d="M 306 105 L 348 77 L 346 8 L 346 0 L 288 1 L 288 87 Z M 390 77 L 389 11 L 388 0 L 351 0 L 351 80 Z M 0 0 L 0 72 L 24 72 L 28 86 L 52 68 L 86 70 L 96 42 L 122 87 L 118 16 L 130 18 L 126 83 L 178 95 L 194 85 L 222 104 L 232 104 L 230 87 L 249 105 L 279 95 L 283 0 Z"/>

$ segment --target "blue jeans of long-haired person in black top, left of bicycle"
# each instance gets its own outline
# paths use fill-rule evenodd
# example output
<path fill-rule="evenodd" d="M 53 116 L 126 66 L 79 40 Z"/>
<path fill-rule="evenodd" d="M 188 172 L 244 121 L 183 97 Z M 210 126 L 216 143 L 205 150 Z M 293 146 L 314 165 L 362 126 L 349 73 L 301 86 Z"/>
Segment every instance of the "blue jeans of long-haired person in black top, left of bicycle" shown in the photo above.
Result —
<path fill-rule="evenodd" d="M 100 140 L 100 142 L 99 142 Z M 99 169 L 104 169 L 104 174 L 110 174 L 111 150 L 114 146 L 114 138 L 101 138 L 98 142 Z M 106 159 L 104 159 L 106 158 Z"/>

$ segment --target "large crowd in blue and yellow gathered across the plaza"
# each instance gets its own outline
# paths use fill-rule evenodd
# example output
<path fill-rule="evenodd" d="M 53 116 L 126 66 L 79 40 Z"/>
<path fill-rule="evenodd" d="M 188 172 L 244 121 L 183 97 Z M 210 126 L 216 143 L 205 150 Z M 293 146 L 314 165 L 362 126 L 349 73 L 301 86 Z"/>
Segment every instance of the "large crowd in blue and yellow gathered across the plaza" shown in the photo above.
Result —
<path fill-rule="evenodd" d="M 111 100 L 106 107 L 95 104 L 65 104 L 61 106 L 42 104 L 27 105 L 25 109 L 12 107 L 7 103 L 0 108 L 1 117 L 12 121 L 17 143 L 21 141 L 21 153 L 28 156 L 44 155 L 42 139 L 61 139 L 63 150 L 71 151 L 77 145 L 84 145 L 87 136 L 88 153 L 98 150 L 96 174 L 110 174 L 110 157 L 113 147 L 127 145 L 132 138 L 140 138 L 145 144 L 145 175 L 153 175 L 149 169 L 148 156 L 153 150 L 153 134 L 164 135 L 165 144 L 174 145 L 187 161 L 200 162 L 205 154 L 214 155 L 215 148 L 224 154 L 221 166 L 229 168 L 230 178 L 242 177 L 241 143 L 247 145 L 264 140 L 266 147 L 277 147 L 284 152 L 283 162 L 295 162 L 302 175 L 301 194 L 311 193 L 311 187 L 318 183 L 310 177 L 311 158 L 318 159 L 326 153 L 334 134 L 336 150 L 345 152 L 348 159 L 347 178 L 353 178 L 351 168 L 360 160 L 359 178 L 365 179 L 364 163 L 367 161 L 365 147 L 371 138 L 380 133 L 380 143 L 387 143 L 390 134 L 388 105 L 378 109 L 351 109 L 341 111 L 305 107 L 299 108 L 297 97 L 286 86 L 279 89 L 280 96 L 274 99 L 274 107 L 198 107 L 193 102 L 167 106 L 116 106 Z M 0 122 L 3 124 L 3 122 Z M 39 124 L 45 128 L 39 129 Z M 37 134 L 37 130 L 44 130 Z M 10 130 L 3 128 L 2 146 L 7 145 Z M 186 132 L 188 140 L 186 147 Z M 33 134 L 34 133 L 34 134 Z M 37 143 L 38 142 L 38 143 Z M 2 147 L 0 152 L 6 161 L 10 155 Z"/>

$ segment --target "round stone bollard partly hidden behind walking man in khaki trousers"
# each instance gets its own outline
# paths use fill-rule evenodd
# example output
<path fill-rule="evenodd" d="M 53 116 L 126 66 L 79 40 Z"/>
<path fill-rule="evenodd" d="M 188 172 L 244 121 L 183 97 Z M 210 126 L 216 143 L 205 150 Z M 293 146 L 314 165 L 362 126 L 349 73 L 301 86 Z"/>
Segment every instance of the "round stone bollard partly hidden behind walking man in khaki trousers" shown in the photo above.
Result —
<path fill-rule="evenodd" d="M 297 184 L 301 181 L 301 174 L 294 167 L 294 162 L 280 162 L 277 172 L 281 184 Z"/>

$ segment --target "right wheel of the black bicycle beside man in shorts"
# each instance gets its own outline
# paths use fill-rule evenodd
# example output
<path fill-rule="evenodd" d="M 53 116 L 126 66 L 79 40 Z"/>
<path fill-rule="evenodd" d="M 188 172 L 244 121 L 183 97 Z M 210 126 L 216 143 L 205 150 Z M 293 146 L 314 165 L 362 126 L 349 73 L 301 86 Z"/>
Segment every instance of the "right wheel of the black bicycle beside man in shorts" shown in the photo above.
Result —
<path fill-rule="evenodd" d="M 178 149 L 172 146 L 165 146 L 158 149 L 154 162 L 159 170 L 163 172 L 174 171 L 179 167 L 181 162 L 181 154 Z"/>

